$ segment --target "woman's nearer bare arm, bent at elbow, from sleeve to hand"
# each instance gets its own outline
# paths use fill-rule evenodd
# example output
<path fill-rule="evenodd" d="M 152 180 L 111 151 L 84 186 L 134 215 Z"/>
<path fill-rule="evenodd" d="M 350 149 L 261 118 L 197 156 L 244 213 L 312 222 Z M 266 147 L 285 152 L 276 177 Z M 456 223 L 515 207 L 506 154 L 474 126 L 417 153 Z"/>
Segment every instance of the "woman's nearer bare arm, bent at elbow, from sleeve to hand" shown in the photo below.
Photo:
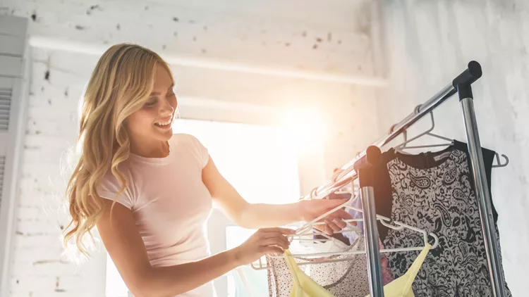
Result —
<path fill-rule="evenodd" d="M 130 209 L 104 199 L 104 213 L 97 229 L 128 289 L 137 297 L 174 296 L 221 277 L 234 268 L 252 263 L 267 253 L 288 248 L 290 229 L 260 229 L 244 244 L 197 262 L 152 267 L 145 244 Z M 112 213 L 111 213 L 112 208 Z"/>

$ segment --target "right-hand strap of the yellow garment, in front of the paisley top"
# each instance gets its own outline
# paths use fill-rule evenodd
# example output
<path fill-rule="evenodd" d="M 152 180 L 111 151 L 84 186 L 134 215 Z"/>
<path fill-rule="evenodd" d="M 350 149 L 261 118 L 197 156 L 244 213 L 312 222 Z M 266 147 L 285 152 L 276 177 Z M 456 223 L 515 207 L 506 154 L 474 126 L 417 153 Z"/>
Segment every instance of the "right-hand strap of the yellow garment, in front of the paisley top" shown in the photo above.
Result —
<path fill-rule="evenodd" d="M 430 251 L 430 248 L 432 248 L 432 246 L 427 244 L 417 258 L 415 258 L 406 274 L 384 286 L 384 297 L 415 297 L 411 285 L 413 284 L 428 251 Z M 370 295 L 367 295 L 366 297 L 370 297 Z"/>

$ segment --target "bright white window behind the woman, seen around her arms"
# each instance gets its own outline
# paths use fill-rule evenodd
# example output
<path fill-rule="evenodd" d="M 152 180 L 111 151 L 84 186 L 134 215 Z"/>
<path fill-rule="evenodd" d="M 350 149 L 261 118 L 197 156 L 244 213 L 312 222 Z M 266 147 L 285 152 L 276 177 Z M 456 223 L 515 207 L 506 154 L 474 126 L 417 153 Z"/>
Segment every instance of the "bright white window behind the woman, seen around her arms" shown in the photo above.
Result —
<path fill-rule="evenodd" d="M 300 196 L 298 156 L 292 137 L 280 129 L 267 126 L 179 119 L 175 133 L 197 137 L 212 156 L 217 168 L 233 187 L 252 203 L 291 203 Z M 212 253 L 233 248 L 248 239 L 254 230 L 233 226 L 214 210 L 208 222 Z M 242 267 L 215 281 L 219 297 L 248 296 L 241 282 L 250 282 L 253 296 L 267 295 L 266 272 Z M 262 296 L 265 296 L 262 295 Z M 107 258 L 107 297 L 127 296 L 126 286 L 116 267 Z"/>

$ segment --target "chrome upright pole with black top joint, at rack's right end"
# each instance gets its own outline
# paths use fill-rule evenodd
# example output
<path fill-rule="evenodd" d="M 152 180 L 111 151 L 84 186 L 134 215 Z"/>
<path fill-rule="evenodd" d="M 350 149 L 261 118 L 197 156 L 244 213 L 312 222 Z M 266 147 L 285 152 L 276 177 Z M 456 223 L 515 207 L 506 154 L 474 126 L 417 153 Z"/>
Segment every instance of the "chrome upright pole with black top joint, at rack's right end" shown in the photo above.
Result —
<path fill-rule="evenodd" d="M 485 175 L 485 165 L 483 163 L 478 123 L 475 119 L 471 87 L 471 84 L 475 80 L 478 80 L 481 75 L 480 64 L 472 61 L 468 64 L 468 70 L 465 70 L 465 72 L 456 77 L 454 87 L 458 90 L 459 100 L 461 101 L 461 108 L 463 110 L 468 153 L 470 154 L 470 163 L 472 164 L 475 196 L 478 199 L 480 209 L 480 220 L 483 240 L 485 241 L 485 250 L 487 251 L 492 293 L 495 297 L 504 297 L 506 296 L 505 279 L 499 262 L 499 248 L 495 232 L 496 229 L 494 227 L 494 217 L 492 216 L 492 203 L 487 177 Z"/>

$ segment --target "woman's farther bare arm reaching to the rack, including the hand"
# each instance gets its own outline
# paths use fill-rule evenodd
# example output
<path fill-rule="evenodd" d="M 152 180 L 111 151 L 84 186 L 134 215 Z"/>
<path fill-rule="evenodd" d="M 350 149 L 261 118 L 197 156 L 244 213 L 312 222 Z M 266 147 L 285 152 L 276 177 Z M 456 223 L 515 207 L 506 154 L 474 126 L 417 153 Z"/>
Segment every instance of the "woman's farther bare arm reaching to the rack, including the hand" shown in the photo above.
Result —
<path fill-rule="evenodd" d="M 336 208 L 345 200 L 322 200 L 299 201 L 289 204 L 265 204 L 248 203 L 238 194 L 236 189 L 224 179 L 211 157 L 202 170 L 202 181 L 206 185 L 209 193 L 224 213 L 236 225 L 248 229 L 259 229 L 265 227 L 280 227 L 292 222 L 310 221 L 326 213 L 332 208 Z M 326 225 L 322 231 L 332 234 L 333 230 L 338 231 L 345 227 L 345 222 L 336 219 L 351 218 L 343 210 L 336 211 L 325 219 Z"/>

